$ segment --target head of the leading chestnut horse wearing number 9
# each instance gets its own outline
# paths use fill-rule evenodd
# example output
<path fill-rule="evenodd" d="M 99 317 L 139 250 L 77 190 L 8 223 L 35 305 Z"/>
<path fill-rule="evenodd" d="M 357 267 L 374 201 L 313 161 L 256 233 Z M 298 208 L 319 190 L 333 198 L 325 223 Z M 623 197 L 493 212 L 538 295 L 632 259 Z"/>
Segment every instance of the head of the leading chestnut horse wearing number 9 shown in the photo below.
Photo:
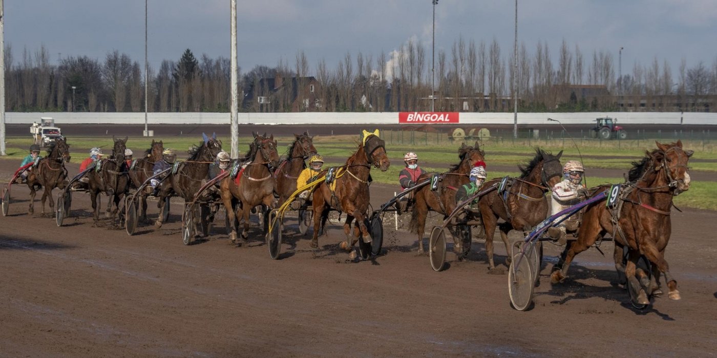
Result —
<path fill-rule="evenodd" d="M 688 161 L 695 153 L 693 150 L 683 150 L 682 140 L 675 143 L 662 144 L 655 141 L 657 150 L 653 150 L 653 163 L 655 172 L 665 169 L 668 185 L 673 190 L 673 195 L 679 195 L 690 189 L 690 173 L 688 173 Z"/>

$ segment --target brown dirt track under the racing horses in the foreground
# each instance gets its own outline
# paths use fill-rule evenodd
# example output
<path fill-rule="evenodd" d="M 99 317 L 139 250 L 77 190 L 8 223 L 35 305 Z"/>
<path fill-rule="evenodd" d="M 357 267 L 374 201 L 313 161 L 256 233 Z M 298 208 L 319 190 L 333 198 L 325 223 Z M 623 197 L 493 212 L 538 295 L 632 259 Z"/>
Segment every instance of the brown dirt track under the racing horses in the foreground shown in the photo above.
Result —
<path fill-rule="evenodd" d="M 0 161 L 0 173 L 17 164 Z M 371 192 L 378 207 L 394 188 Z M 448 253 L 450 267 L 436 273 L 389 218 L 374 260 L 336 251 L 336 226 L 313 251 L 289 220 L 282 259 L 272 261 L 258 228 L 248 248 L 219 228 L 184 246 L 180 205 L 161 230 L 127 236 L 90 227 L 87 195 L 73 198 L 79 218 L 57 228 L 39 203 L 25 214 L 27 193 L 14 187 L 10 216 L 0 218 L 2 357 L 705 357 L 717 347 L 713 211 L 673 211 L 667 258 L 681 301 L 633 310 L 605 243 L 607 257 L 581 254 L 555 287 L 548 274 L 559 251 L 548 248 L 536 305 L 519 312 L 508 276 L 488 274 L 483 243 L 467 262 Z"/>

